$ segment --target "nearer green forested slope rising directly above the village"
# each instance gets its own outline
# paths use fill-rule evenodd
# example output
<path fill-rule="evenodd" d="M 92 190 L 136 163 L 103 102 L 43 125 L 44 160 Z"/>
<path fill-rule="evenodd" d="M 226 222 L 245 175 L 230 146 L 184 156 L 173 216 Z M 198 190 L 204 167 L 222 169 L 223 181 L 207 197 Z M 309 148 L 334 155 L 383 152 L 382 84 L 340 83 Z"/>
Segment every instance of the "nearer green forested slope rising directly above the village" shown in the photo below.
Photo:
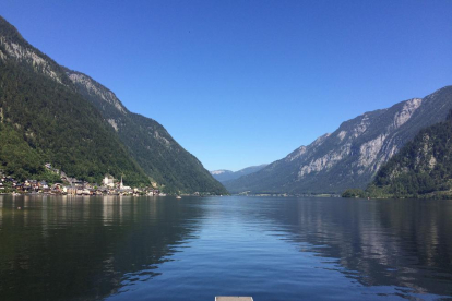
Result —
<path fill-rule="evenodd" d="M 17 178 L 45 178 L 48 161 L 93 182 L 105 172 L 131 184 L 148 182 L 62 68 L 1 17 L 0 123 L 0 169 Z"/>

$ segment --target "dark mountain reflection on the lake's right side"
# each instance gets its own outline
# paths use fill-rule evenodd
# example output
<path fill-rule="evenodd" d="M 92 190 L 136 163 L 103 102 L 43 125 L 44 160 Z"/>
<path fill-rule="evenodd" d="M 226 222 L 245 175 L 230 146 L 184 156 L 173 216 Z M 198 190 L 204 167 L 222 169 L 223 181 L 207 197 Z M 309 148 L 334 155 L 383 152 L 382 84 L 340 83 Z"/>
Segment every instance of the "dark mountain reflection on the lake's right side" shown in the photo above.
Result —
<path fill-rule="evenodd" d="M 336 260 L 347 277 L 365 286 L 452 294 L 452 202 L 287 202 L 271 206 L 265 217 L 283 224 L 277 231 L 292 233 L 289 240 L 313 245 L 304 251 Z"/>

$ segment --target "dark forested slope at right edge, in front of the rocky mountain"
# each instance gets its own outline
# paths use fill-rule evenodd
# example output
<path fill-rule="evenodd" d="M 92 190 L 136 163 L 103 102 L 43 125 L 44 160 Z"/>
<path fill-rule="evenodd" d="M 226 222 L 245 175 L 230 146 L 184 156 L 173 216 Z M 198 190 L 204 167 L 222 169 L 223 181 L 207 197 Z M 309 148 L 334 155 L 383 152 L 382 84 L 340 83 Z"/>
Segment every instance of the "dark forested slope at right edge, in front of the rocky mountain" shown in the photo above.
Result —
<path fill-rule="evenodd" d="M 372 197 L 452 195 L 452 111 L 445 121 L 423 129 L 378 171 L 368 186 Z"/>

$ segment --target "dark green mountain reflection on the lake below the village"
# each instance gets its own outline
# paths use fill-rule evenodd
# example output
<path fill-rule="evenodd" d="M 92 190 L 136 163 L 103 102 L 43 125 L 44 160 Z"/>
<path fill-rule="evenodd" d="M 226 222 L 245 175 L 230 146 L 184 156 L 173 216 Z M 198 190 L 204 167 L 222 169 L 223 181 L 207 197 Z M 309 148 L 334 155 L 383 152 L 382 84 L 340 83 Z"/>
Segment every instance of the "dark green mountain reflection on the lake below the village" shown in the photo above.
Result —
<path fill-rule="evenodd" d="M 0 196 L 0 300 L 103 299 L 158 275 L 202 216 L 168 197 L 8 197 Z"/>

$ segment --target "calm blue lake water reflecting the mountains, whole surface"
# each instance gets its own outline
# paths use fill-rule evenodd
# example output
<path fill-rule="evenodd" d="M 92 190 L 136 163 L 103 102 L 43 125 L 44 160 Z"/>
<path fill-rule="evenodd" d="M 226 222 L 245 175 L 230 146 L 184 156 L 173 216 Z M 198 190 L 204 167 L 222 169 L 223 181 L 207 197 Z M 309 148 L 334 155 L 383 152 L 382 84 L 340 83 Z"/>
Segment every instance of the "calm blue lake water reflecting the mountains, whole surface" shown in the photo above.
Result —
<path fill-rule="evenodd" d="M 0 300 L 225 294 L 452 300 L 452 202 L 0 196 Z"/>

